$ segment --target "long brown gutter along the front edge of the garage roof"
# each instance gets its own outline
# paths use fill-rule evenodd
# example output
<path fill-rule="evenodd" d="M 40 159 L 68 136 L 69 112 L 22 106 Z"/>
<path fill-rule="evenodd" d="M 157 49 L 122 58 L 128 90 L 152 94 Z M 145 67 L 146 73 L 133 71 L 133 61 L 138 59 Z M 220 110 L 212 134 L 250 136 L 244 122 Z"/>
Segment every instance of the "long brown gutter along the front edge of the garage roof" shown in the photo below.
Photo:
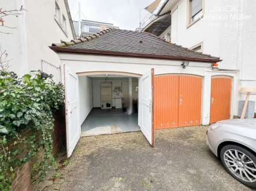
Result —
<path fill-rule="evenodd" d="M 95 55 L 112 55 L 112 56 L 126 56 L 126 57 L 135 57 L 135 58 L 150 58 L 150 59 L 164 59 L 164 60 L 180 60 L 180 61 L 196 61 L 196 62 L 221 62 L 220 59 L 207 59 L 207 58 L 191 58 L 185 56 L 168 56 L 168 55 L 154 55 L 154 54 L 138 54 L 131 52 L 116 52 L 116 51 L 99 51 L 92 49 L 81 49 L 81 48 L 65 48 L 65 47 L 53 47 L 50 46 L 50 49 L 58 52 L 69 52 L 75 54 L 95 54 Z"/>

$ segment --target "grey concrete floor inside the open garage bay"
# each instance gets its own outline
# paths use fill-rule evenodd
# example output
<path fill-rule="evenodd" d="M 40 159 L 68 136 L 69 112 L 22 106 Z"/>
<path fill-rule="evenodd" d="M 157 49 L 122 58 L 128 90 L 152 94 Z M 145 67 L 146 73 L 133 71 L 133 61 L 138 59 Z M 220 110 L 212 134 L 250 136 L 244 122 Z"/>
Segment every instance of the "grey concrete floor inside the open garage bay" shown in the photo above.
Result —
<path fill-rule="evenodd" d="M 138 113 L 125 114 L 122 109 L 92 109 L 81 127 L 81 136 L 140 131 Z"/>

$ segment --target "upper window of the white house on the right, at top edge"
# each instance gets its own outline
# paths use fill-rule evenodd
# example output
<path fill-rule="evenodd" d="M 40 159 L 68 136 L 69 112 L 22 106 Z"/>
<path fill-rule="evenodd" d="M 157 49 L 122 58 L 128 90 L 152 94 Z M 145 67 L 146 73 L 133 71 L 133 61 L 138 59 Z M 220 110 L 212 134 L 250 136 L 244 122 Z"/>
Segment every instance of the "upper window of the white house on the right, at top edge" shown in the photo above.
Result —
<path fill-rule="evenodd" d="M 202 14 L 204 14 L 203 4 L 204 0 L 188 0 L 188 25 L 193 24 L 202 17 Z"/>

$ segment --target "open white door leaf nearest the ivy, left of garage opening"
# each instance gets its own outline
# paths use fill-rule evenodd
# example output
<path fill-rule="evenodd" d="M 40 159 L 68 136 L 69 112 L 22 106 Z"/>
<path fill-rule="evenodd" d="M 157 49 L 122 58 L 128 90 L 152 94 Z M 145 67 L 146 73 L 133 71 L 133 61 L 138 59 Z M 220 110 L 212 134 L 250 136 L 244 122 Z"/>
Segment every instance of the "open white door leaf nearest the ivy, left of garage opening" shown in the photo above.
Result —
<path fill-rule="evenodd" d="M 78 76 L 64 65 L 66 154 L 72 155 L 81 135 Z"/>

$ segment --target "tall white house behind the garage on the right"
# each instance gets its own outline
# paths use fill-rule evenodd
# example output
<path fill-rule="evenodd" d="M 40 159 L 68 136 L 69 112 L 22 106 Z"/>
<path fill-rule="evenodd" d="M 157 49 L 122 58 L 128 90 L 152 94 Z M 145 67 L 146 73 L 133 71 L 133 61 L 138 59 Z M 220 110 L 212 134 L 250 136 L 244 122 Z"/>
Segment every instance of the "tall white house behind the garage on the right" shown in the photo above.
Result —
<path fill-rule="evenodd" d="M 247 0 L 166 0 L 143 31 L 220 56 L 220 70 L 238 72 L 240 87 L 256 87 L 255 5 Z M 250 100 L 256 101 L 256 96 Z"/>

